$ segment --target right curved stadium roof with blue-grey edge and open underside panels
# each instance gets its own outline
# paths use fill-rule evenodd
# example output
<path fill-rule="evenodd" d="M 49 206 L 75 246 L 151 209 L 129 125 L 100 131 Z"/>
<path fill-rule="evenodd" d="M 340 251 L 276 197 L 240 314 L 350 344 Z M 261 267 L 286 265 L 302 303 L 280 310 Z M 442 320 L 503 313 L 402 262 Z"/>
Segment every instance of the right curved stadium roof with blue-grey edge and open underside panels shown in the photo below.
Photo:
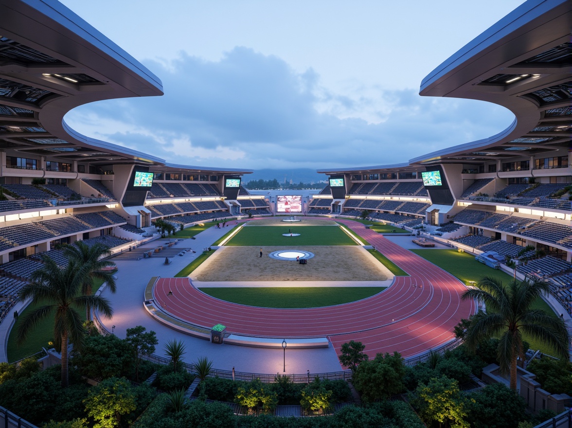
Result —
<path fill-rule="evenodd" d="M 319 169 L 320 173 L 419 169 L 482 163 L 569 148 L 572 136 L 572 6 L 530 0 L 468 43 L 424 78 L 420 95 L 494 102 L 515 114 L 509 128 L 398 165 Z"/>

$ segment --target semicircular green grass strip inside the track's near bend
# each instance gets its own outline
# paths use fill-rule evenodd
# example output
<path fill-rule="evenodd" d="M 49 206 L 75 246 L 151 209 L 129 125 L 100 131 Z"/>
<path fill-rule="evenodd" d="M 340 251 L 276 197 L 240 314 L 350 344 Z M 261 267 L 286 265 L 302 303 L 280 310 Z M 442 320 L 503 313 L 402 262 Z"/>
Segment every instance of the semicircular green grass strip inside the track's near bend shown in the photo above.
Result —
<path fill-rule="evenodd" d="M 200 290 L 227 302 L 264 308 L 317 308 L 366 299 L 386 287 L 264 287 Z"/>

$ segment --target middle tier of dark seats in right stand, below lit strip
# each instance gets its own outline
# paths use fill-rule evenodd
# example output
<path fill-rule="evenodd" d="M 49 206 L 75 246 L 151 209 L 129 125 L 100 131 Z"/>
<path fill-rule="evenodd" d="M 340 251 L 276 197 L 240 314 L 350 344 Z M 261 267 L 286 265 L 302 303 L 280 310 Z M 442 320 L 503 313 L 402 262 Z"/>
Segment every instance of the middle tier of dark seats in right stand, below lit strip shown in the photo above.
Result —
<path fill-rule="evenodd" d="M 457 213 L 453 220 L 456 223 L 510 232 L 572 248 L 572 227 L 551 221 L 527 219 L 515 215 L 468 208 Z"/>

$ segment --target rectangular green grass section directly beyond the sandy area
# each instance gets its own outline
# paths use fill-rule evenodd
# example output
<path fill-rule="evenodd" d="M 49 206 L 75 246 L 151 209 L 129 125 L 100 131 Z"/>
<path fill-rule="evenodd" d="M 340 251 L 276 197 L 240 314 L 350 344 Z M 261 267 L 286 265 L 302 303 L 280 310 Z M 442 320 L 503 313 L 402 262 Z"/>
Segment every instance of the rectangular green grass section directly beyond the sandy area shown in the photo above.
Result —
<path fill-rule="evenodd" d="M 300 236 L 283 236 L 283 233 L 300 233 Z M 243 227 L 226 245 L 264 247 L 284 245 L 357 245 L 337 226 L 257 226 Z"/>

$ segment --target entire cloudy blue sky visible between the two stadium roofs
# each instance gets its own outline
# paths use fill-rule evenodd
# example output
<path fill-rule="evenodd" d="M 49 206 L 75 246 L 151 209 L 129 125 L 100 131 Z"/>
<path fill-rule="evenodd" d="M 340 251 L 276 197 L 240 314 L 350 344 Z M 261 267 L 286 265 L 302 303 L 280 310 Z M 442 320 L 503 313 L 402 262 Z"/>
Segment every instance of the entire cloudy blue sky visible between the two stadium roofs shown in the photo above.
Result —
<path fill-rule="evenodd" d="M 165 92 L 81 106 L 65 120 L 176 164 L 407 162 L 513 121 L 496 105 L 418 92 L 431 70 L 522 3 L 63 0 Z"/>

